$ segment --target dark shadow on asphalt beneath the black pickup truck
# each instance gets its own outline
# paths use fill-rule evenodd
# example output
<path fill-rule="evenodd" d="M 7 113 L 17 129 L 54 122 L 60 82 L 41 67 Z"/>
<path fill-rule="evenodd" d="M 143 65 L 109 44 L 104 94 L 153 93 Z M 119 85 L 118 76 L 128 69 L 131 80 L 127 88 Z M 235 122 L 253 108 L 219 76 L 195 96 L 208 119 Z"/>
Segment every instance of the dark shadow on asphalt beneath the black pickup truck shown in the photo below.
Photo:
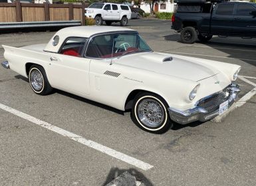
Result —
<path fill-rule="evenodd" d="M 166 41 L 176 41 L 178 43 L 182 43 L 180 41 L 180 34 L 165 35 L 164 39 Z M 241 41 L 243 41 L 243 43 L 241 43 Z M 220 52 L 228 54 L 228 58 L 238 58 L 239 60 L 242 60 L 247 64 L 256 66 L 256 54 L 253 51 L 256 50 L 256 45 L 254 45 L 253 43 L 246 43 L 246 41 L 246 39 L 239 40 L 233 39 L 232 37 L 230 37 L 228 41 L 225 41 L 225 38 L 215 37 L 205 43 L 196 41 L 195 44 L 201 43 L 203 45 L 209 46 L 210 48 L 214 48 L 215 50 L 219 50 Z M 193 44 L 191 45 L 193 46 Z"/>

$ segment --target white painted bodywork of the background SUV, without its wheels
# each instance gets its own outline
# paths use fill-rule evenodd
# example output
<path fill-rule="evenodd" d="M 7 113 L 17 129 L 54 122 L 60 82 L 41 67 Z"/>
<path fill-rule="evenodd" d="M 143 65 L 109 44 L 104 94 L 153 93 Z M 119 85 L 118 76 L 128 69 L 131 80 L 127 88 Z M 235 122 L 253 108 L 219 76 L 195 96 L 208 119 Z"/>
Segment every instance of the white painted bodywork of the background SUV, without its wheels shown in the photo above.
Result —
<path fill-rule="evenodd" d="M 103 4 L 103 3 L 98 3 Z M 110 9 L 105 10 L 104 7 L 106 5 L 110 5 Z M 116 5 L 118 9 L 114 10 L 113 5 Z M 122 9 L 122 7 L 126 7 L 127 9 Z M 94 19 L 96 16 L 102 17 L 103 21 L 120 21 L 122 17 L 127 17 L 128 19 L 131 19 L 132 11 L 130 10 L 130 7 L 128 5 L 122 5 L 122 4 L 115 4 L 115 3 L 104 3 L 103 7 L 101 9 L 96 8 L 86 8 L 85 9 L 86 17 L 90 17 Z"/>

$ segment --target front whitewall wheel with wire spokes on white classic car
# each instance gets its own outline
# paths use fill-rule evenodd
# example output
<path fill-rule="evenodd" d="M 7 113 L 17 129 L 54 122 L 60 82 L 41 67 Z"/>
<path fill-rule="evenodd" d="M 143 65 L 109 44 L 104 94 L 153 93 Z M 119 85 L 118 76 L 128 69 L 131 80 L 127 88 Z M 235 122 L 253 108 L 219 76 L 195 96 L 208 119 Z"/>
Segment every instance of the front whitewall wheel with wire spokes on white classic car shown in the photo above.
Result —
<path fill-rule="evenodd" d="M 149 92 L 138 94 L 132 106 L 132 120 L 147 132 L 163 133 L 172 126 L 168 104 L 160 96 Z"/>

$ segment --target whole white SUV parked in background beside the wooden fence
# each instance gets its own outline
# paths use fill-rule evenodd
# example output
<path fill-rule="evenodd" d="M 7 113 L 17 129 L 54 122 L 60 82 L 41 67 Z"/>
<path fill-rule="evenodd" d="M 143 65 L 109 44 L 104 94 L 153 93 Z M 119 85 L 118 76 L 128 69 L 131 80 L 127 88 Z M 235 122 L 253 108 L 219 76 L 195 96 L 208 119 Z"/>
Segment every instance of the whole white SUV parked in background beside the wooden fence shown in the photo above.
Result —
<path fill-rule="evenodd" d="M 95 19 L 96 25 L 102 25 L 102 21 L 105 21 L 106 25 L 120 22 L 121 26 L 126 26 L 131 15 L 128 5 L 114 3 L 92 3 L 85 9 L 85 16 Z"/>

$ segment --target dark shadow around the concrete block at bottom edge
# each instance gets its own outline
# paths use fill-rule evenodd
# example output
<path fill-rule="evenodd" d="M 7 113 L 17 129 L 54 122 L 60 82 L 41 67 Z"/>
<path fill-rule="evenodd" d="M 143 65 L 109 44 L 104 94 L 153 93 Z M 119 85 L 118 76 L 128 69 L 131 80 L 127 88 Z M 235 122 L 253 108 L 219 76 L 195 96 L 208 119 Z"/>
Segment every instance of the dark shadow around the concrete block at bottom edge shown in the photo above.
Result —
<path fill-rule="evenodd" d="M 128 172 L 134 177 L 136 177 L 136 180 L 141 181 L 146 186 L 153 186 L 151 181 L 140 171 L 136 169 L 119 169 L 118 167 L 112 167 L 108 173 L 108 176 L 106 177 L 106 181 L 102 184 L 102 186 L 107 185 L 110 183 L 113 179 L 116 179 L 119 175 L 121 175 L 124 172 Z M 142 185 L 143 185 L 142 184 Z"/>

